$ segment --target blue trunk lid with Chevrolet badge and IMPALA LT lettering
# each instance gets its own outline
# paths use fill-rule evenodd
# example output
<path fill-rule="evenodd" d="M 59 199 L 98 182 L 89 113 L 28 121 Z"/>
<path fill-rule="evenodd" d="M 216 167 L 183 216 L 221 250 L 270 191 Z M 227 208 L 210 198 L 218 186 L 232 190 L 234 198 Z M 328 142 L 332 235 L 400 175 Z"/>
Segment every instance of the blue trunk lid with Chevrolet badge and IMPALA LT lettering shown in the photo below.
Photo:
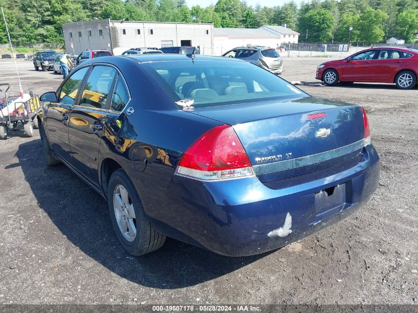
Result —
<path fill-rule="evenodd" d="M 306 174 L 354 158 L 364 147 L 360 106 L 315 97 L 196 108 L 232 125 L 263 181 Z"/>

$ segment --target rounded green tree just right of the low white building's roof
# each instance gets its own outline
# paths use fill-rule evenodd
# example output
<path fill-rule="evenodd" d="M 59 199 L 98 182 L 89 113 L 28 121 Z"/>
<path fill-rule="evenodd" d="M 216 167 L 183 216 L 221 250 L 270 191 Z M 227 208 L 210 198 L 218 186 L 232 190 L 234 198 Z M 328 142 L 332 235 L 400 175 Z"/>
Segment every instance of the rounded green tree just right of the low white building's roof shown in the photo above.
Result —
<path fill-rule="evenodd" d="M 308 42 L 329 42 L 332 39 L 332 30 L 335 18 L 325 9 L 310 10 L 299 20 L 299 33 L 304 38 L 308 30 Z"/>

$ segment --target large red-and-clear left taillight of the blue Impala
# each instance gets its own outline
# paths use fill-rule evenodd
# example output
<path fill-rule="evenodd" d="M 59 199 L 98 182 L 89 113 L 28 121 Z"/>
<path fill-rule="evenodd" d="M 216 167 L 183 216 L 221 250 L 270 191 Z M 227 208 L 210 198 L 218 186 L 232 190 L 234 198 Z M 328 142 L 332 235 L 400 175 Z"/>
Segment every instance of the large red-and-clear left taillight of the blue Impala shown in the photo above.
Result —
<path fill-rule="evenodd" d="M 177 173 L 202 180 L 254 176 L 244 147 L 230 125 L 202 134 L 183 153 Z"/>

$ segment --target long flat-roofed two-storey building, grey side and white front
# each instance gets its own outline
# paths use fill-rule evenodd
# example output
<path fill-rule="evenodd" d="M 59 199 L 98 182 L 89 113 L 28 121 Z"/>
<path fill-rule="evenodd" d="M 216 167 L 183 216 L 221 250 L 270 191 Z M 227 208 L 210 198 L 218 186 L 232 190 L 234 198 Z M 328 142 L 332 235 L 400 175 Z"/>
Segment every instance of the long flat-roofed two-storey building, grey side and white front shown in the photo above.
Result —
<path fill-rule="evenodd" d="M 128 22 L 110 19 L 62 25 L 65 49 L 75 54 L 104 49 L 118 55 L 129 48 L 195 46 L 213 54 L 212 23 Z"/>

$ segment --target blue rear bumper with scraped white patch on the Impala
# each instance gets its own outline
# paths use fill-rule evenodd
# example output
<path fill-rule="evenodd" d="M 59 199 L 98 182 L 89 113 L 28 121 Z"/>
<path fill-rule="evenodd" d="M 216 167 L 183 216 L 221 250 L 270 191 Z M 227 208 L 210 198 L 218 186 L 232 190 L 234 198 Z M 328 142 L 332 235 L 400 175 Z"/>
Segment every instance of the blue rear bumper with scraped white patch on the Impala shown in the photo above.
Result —
<path fill-rule="evenodd" d="M 379 172 L 370 144 L 356 166 L 291 187 L 268 188 L 256 177 L 203 182 L 175 175 L 168 189 L 141 197 L 161 232 L 222 255 L 247 256 L 288 245 L 356 212 L 376 190 Z M 330 200 L 324 190 L 332 186 L 342 192 Z"/>

